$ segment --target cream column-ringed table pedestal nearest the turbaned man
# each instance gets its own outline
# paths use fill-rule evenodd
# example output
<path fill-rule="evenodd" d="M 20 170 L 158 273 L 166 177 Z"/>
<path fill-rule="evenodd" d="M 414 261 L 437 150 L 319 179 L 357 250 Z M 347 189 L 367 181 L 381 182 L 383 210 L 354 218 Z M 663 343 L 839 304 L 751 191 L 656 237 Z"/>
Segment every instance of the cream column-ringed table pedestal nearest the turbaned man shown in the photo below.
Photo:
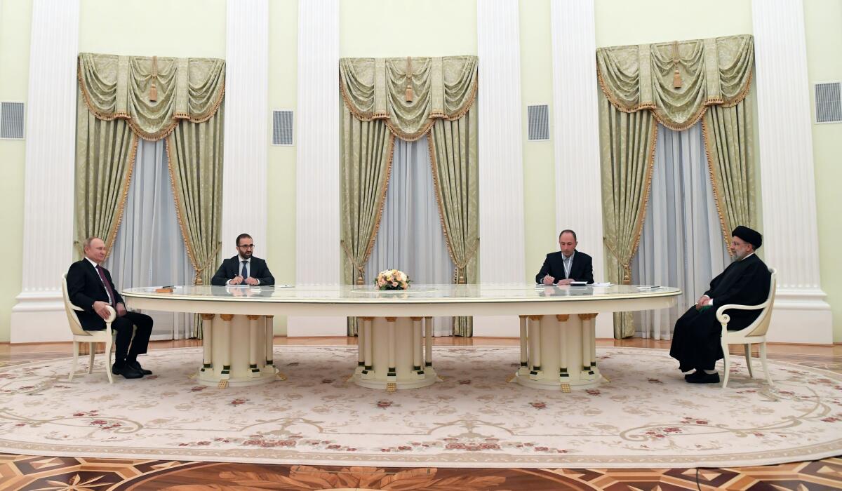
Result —
<path fill-rule="evenodd" d="M 520 316 L 520 368 L 525 387 L 569 392 L 608 382 L 596 366 L 594 313 Z"/>

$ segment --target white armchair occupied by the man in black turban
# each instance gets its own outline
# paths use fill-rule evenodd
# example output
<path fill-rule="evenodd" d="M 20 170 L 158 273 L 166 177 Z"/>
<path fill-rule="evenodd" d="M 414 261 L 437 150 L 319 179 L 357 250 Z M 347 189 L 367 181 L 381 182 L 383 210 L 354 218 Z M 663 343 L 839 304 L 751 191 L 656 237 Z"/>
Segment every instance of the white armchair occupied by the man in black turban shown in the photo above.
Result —
<path fill-rule="evenodd" d="M 725 360 L 725 378 L 722 379 L 722 388 L 728 385 L 728 374 L 731 369 L 731 356 L 728 353 L 728 344 L 743 344 L 745 347 L 745 365 L 749 369 L 749 376 L 754 377 L 751 371 L 751 345 L 759 344 L 760 364 L 766 374 L 766 382 L 772 385 L 772 377 L 769 374 L 769 367 L 766 366 L 766 331 L 769 330 L 769 323 L 772 319 L 772 307 L 775 306 L 775 276 L 777 270 L 770 268 L 771 277 L 769 280 L 769 296 L 760 305 L 723 305 L 717 308 L 717 320 L 722 324 L 722 356 Z M 728 309 L 739 310 L 760 310 L 760 315 L 748 327 L 738 331 L 729 331 L 728 323 L 731 316 L 725 313 Z"/>

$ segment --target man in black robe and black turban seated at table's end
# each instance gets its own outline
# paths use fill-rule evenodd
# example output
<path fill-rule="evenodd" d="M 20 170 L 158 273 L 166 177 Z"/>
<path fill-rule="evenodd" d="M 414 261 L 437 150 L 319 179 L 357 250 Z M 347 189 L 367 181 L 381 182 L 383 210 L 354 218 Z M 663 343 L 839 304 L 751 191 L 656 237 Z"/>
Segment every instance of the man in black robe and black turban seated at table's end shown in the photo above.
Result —
<path fill-rule="evenodd" d="M 685 375 L 690 383 L 719 382 L 719 373 L 713 369 L 722 359 L 722 324 L 717 321 L 717 307 L 759 305 L 769 296 L 769 268 L 754 254 L 762 245 L 763 236 L 742 225 L 731 236 L 733 262 L 711 280 L 711 288 L 675 322 L 669 355 L 679 360 L 679 370 L 695 369 Z M 729 331 L 748 327 L 760 315 L 759 310 L 726 312 L 731 317 Z"/>

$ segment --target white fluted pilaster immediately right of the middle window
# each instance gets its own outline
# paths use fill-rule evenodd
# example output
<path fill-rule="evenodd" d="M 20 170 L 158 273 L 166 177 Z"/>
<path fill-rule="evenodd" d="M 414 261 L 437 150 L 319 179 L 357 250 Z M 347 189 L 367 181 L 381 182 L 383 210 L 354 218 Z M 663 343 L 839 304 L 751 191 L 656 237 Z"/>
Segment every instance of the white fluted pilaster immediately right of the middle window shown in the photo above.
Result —
<path fill-rule="evenodd" d="M 523 111 L 517 0 L 477 2 L 479 280 L 520 283 L 524 269 Z M 475 317 L 474 334 L 514 336 L 518 318 Z"/>

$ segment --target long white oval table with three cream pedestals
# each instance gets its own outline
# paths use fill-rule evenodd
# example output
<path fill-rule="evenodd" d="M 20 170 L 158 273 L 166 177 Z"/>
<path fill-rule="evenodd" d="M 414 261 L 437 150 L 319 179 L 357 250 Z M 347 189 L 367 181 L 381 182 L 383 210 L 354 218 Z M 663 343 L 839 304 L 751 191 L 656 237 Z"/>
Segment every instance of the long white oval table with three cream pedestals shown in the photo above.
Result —
<path fill-rule="evenodd" d="M 272 317 L 347 316 L 360 319 L 357 385 L 394 391 L 440 381 L 433 366 L 434 316 L 520 317 L 520 368 L 509 377 L 527 387 L 569 391 L 604 378 L 596 365 L 594 318 L 599 313 L 675 305 L 667 286 L 413 285 L 177 286 L 122 292 L 127 307 L 195 312 L 203 319 L 206 385 L 285 380 L 274 366 Z"/>

